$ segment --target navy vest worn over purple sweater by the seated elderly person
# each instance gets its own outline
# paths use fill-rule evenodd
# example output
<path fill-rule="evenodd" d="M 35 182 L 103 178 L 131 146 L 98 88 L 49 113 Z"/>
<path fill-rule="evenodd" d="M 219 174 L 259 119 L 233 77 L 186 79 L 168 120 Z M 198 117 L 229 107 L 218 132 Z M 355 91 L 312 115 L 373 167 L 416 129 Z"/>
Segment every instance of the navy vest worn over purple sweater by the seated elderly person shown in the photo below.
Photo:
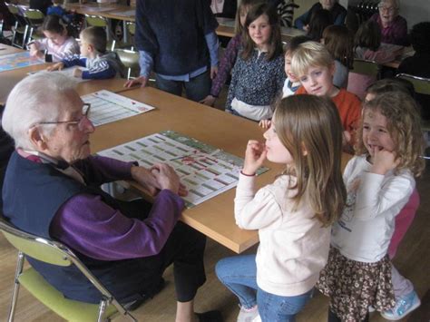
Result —
<path fill-rule="evenodd" d="M 85 177 L 91 178 L 91 173 Z M 50 164 L 28 161 L 14 152 L 5 174 L 5 218 L 18 229 L 51 239 L 49 227 L 57 210 L 65 201 L 80 193 L 100 195 L 112 208 L 120 207 L 116 200 L 100 188 L 85 186 Z M 121 302 L 140 298 L 142 290 L 148 287 L 139 259 L 104 261 L 91 259 L 76 251 L 74 253 Z M 65 298 L 99 303 L 101 293 L 74 266 L 64 268 L 29 257 L 27 260 Z"/>

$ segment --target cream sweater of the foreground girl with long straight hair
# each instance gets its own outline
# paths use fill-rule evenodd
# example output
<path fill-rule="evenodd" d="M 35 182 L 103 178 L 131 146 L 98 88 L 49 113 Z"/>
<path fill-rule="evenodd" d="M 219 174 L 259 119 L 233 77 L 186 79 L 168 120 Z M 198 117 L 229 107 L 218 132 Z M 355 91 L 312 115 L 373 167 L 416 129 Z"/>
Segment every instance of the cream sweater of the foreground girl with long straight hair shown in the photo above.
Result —
<path fill-rule="evenodd" d="M 292 297 L 308 292 L 327 263 L 330 229 L 314 218 L 303 197 L 292 211 L 288 189 L 296 178 L 280 176 L 272 184 L 254 188 L 255 177 L 240 174 L 234 200 L 236 223 L 242 229 L 259 229 L 257 284 L 271 294 Z"/>

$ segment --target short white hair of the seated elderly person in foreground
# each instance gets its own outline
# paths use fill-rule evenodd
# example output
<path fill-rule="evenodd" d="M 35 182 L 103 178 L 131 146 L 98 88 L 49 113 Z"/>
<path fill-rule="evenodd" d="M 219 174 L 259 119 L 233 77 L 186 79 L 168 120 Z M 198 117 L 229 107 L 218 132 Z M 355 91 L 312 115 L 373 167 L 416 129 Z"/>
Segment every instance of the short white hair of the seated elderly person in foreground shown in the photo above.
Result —
<path fill-rule="evenodd" d="M 62 93 L 73 90 L 75 83 L 61 73 L 34 73 L 17 83 L 7 97 L 2 126 L 15 141 L 15 147 L 33 150 L 28 130 L 38 122 L 58 121 L 63 111 Z M 44 127 L 49 135 L 54 127 Z"/>

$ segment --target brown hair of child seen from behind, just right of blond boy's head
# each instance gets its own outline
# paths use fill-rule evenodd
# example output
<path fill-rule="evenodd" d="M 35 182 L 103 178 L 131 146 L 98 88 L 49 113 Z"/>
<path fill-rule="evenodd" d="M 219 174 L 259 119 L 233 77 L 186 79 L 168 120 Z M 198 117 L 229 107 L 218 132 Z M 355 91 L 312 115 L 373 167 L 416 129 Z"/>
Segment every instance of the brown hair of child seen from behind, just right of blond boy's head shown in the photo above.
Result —
<path fill-rule="evenodd" d="M 323 32 L 324 44 L 334 59 L 352 68 L 354 35 L 344 25 L 329 25 Z"/>

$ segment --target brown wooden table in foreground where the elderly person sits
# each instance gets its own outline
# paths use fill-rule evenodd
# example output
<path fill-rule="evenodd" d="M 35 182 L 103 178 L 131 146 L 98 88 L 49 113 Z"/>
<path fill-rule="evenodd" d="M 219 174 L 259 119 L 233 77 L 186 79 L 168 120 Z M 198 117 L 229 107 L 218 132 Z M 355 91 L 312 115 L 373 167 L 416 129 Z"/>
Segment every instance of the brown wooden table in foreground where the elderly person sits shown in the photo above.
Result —
<path fill-rule="evenodd" d="M 122 95 L 157 109 L 97 127 L 91 138 L 93 152 L 165 130 L 180 132 L 240 157 L 244 156 L 249 139 L 263 140 L 264 131 L 256 122 L 151 87 L 122 92 Z M 273 182 L 283 169 L 281 165 L 269 162 L 265 165 L 270 170 L 257 178 L 258 187 Z M 237 253 L 249 249 L 259 242 L 259 236 L 255 230 L 242 230 L 236 226 L 234 195 L 235 190 L 231 189 L 195 208 L 184 210 L 181 220 Z"/>

